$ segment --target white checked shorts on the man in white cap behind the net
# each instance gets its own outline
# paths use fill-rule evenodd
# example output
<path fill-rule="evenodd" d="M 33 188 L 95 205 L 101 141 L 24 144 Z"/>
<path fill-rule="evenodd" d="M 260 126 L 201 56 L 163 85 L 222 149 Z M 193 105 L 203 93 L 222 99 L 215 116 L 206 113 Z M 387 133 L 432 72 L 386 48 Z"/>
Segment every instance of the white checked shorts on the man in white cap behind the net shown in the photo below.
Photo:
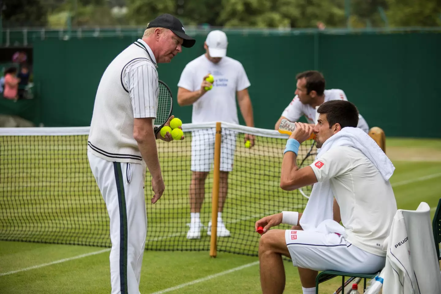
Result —
<path fill-rule="evenodd" d="M 236 149 L 236 132 L 222 129 L 221 171 L 232 171 Z M 191 133 L 191 171 L 210 171 L 214 161 L 216 129 L 195 130 Z"/>

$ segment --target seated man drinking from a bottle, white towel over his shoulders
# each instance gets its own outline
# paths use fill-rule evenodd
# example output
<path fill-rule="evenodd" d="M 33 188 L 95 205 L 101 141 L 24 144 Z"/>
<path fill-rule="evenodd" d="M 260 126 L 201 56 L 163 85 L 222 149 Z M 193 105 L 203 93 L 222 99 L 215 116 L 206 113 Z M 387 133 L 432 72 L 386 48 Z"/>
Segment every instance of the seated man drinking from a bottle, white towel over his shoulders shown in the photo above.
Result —
<path fill-rule="evenodd" d="M 263 294 L 282 293 L 285 271 L 282 255 L 299 269 L 304 294 L 315 294 L 317 271 L 371 273 L 385 266 L 383 248 L 396 212 L 389 178 L 395 167 L 380 147 L 357 128 L 354 104 L 331 100 L 321 104 L 318 123 L 296 123 L 287 141 L 280 187 L 295 190 L 314 184 L 302 213 L 281 212 L 258 220 L 264 227 L 259 242 L 260 281 Z M 321 148 L 313 164 L 300 168 L 299 145 L 317 134 Z M 333 215 L 333 198 L 340 216 Z M 343 226 L 334 219 L 340 219 Z M 298 226 L 269 230 L 280 223 Z"/>

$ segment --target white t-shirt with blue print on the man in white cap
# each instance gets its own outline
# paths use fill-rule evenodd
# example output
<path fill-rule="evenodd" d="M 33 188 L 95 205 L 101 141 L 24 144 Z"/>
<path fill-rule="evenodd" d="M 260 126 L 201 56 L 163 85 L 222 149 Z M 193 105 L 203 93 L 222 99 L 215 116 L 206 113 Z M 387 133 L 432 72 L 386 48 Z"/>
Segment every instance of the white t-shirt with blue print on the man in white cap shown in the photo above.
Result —
<path fill-rule="evenodd" d="M 185 66 L 178 87 L 196 91 L 201 88 L 207 74 L 213 74 L 213 89 L 194 102 L 191 122 L 223 121 L 239 124 L 236 92 L 251 85 L 242 63 L 228 56 L 223 57 L 219 63 L 212 63 L 205 55 L 199 56 Z"/>

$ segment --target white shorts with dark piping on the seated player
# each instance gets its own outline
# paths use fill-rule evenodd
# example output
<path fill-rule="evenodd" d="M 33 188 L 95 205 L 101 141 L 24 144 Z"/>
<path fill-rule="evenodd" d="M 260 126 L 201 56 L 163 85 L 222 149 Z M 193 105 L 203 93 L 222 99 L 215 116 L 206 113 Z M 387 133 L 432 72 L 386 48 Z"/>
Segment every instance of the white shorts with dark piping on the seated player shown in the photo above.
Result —
<path fill-rule="evenodd" d="M 359 249 L 336 233 L 286 230 L 285 241 L 292 264 L 299 268 L 374 273 L 386 263 L 386 257 Z"/>

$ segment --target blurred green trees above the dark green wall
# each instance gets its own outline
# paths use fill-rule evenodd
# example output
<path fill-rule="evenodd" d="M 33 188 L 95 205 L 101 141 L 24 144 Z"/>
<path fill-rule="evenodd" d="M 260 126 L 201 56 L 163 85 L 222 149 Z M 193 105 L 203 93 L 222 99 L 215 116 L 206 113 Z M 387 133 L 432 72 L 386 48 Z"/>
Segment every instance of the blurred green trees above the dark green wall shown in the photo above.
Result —
<path fill-rule="evenodd" d="M 386 23 L 389 26 L 441 26 L 441 0 L 0 0 L 2 2 L 3 22 L 7 26 L 65 26 L 70 18 L 74 26 L 145 26 L 163 13 L 176 15 L 185 26 L 316 28 L 319 23 L 326 27 L 346 27 L 348 23 L 351 27 L 379 27 Z M 121 13 L 126 10 L 127 14 Z"/>

